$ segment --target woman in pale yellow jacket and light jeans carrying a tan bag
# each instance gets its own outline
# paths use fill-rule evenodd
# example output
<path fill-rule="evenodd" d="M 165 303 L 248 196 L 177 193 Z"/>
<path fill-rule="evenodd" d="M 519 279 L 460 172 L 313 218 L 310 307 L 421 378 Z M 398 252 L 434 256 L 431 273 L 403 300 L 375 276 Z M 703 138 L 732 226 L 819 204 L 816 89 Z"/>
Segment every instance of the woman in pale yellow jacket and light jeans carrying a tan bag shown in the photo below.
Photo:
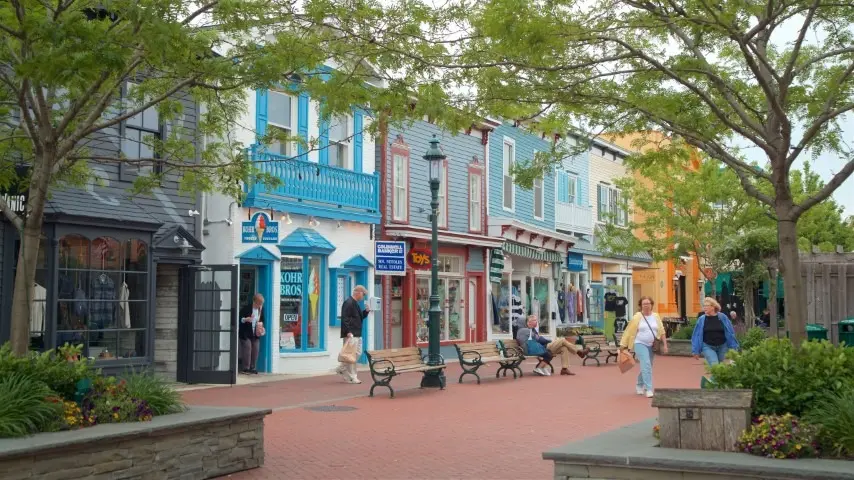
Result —
<path fill-rule="evenodd" d="M 647 398 L 652 398 L 652 359 L 655 356 L 653 344 L 656 340 L 661 342 L 661 353 L 667 353 L 667 335 L 664 332 L 664 324 L 658 314 L 652 311 L 655 302 L 650 297 L 641 297 L 638 302 L 640 312 L 635 313 L 623 338 L 620 340 L 620 349 L 630 347 L 640 363 L 640 373 L 635 391 L 638 395 L 646 393 Z"/>

